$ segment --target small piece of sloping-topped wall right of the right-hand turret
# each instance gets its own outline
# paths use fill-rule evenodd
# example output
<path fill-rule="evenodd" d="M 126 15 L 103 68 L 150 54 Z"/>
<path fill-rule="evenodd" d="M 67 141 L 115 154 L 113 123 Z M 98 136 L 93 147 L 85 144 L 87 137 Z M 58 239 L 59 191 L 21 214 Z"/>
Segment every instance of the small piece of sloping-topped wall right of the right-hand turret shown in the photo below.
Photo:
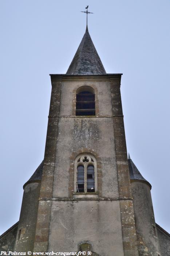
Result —
<path fill-rule="evenodd" d="M 157 234 L 161 249 L 161 256 L 170 256 L 170 234 L 157 225 Z"/>

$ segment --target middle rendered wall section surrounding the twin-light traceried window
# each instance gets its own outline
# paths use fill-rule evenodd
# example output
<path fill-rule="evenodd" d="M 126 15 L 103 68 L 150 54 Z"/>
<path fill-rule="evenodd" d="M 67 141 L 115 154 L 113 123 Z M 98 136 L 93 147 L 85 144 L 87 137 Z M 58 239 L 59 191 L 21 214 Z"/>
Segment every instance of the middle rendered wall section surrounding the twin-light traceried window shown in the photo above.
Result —
<path fill-rule="evenodd" d="M 102 184 L 98 192 L 103 197 L 118 197 L 112 118 L 63 117 L 59 120 L 58 129 L 53 197 L 72 196 L 74 180 L 70 180 L 70 176 L 74 170 L 75 157 L 80 152 L 100 156 Z"/>

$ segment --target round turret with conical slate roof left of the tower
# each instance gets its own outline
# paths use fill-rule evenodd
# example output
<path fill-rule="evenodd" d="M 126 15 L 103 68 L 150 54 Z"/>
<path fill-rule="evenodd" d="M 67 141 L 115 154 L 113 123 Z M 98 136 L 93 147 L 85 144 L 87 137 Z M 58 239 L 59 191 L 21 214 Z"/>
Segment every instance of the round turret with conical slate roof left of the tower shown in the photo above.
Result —
<path fill-rule="evenodd" d="M 43 161 L 24 184 L 23 201 L 15 241 L 15 251 L 33 251 Z"/>

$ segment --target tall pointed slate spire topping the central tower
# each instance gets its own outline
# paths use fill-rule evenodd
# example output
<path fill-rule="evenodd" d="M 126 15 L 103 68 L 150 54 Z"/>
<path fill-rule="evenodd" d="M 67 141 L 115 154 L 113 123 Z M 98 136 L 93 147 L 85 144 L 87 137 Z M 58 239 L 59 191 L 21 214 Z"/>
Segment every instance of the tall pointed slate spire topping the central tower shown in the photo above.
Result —
<path fill-rule="evenodd" d="M 92 42 L 88 27 L 66 74 L 106 74 L 102 61 Z"/>

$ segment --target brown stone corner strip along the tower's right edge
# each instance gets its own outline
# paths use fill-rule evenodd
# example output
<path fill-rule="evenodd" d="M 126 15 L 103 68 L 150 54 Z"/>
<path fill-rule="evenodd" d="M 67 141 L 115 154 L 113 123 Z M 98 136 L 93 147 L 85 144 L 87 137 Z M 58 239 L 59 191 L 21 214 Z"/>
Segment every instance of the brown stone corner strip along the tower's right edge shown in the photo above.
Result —
<path fill-rule="evenodd" d="M 111 80 L 110 86 L 119 197 L 124 197 L 127 199 L 132 197 L 119 80 Z M 138 256 L 133 200 L 120 200 L 120 212 L 122 221 L 124 255 Z"/>

